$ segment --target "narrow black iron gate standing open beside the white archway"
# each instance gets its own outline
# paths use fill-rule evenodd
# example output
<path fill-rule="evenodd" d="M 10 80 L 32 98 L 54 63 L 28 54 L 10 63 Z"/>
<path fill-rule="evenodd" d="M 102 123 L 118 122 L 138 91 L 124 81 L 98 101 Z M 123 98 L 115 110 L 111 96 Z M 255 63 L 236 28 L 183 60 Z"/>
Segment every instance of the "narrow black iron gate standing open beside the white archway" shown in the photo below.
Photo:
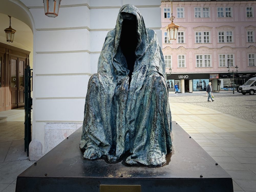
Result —
<path fill-rule="evenodd" d="M 29 66 L 25 68 L 25 151 L 27 156 L 29 155 L 29 143 L 31 141 L 31 110 L 32 110 L 32 98 L 31 98 L 31 71 Z"/>

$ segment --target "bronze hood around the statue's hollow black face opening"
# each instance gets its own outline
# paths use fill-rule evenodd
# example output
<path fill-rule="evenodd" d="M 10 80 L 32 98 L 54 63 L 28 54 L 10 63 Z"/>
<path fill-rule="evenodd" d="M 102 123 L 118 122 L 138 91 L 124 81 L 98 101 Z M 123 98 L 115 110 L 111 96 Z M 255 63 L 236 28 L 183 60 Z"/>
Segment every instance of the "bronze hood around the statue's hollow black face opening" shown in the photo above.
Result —
<path fill-rule="evenodd" d="M 114 52 L 116 53 L 118 51 L 118 47 L 120 44 L 124 13 L 133 14 L 136 17 L 138 45 L 137 45 L 137 49 L 135 50 L 135 54 L 137 57 L 143 56 L 148 48 L 148 34 L 147 34 L 145 23 L 140 11 L 138 10 L 137 7 L 130 4 L 126 4 L 122 6 L 119 11 L 119 14 L 116 20 L 116 26 L 115 26 Z"/>

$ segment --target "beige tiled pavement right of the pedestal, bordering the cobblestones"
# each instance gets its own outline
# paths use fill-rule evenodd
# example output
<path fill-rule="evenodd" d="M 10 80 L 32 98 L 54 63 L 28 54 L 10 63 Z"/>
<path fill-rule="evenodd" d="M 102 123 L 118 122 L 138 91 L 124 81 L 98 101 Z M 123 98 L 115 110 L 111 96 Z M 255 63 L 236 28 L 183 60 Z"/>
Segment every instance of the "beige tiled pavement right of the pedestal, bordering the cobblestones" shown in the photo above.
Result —
<path fill-rule="evenodd" d="M 256 124 L 216 110 L 170 102 L 176 121 L 233 178 L 234 191 L 256 191 Z"/>

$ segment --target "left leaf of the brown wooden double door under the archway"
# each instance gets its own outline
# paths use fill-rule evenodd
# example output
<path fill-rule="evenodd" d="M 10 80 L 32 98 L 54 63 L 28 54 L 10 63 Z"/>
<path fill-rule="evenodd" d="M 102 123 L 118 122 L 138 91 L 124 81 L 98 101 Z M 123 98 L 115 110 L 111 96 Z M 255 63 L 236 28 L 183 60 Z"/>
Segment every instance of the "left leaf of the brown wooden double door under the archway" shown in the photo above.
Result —
<path fill-rule="evenodd" d="M 9 89 L 11 96 L 11 109 L 16 109 L 18 107 L 18 58 L 10 57 L 10 81 Z"/>

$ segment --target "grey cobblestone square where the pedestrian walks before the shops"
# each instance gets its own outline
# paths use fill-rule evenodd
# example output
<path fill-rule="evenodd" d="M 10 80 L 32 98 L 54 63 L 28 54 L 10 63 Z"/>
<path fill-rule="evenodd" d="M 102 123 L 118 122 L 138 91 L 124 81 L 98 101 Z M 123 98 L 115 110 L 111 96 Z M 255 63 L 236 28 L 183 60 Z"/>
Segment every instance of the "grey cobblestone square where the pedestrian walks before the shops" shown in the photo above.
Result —
<path fill-rule="evenodd" d="M 185 96 L 186 94 L 191 96 Z M 193 94 L 194 93 L 169 94 L 169 101 L 214 109 L 256 123 L 256 95 L 214 93 L 215 101 L 207 102 L 206 94 Z"/>

